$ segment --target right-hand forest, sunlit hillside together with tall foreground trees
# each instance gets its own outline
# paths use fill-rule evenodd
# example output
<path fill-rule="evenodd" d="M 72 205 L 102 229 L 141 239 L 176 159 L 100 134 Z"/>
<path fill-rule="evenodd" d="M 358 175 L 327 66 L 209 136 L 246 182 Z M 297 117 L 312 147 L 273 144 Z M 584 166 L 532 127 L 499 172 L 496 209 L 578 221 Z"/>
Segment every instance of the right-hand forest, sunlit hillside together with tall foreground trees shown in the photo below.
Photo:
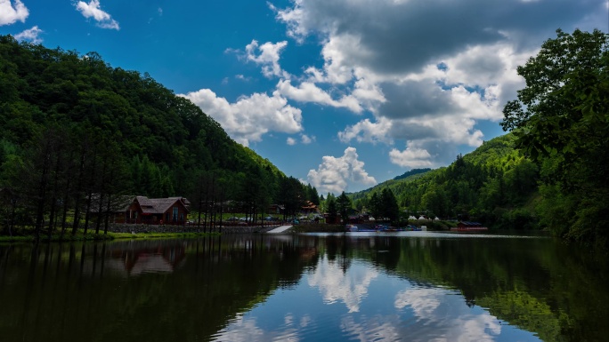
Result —
<path fill-rule="evenodd" d="M 526 86 L 500 123 L 511 132 L 446 168 L 351 194 L 355 205 L 390 189 L 407 213 L 548 229 L 608 247 L 609 36 L 556 33 L 517 68 Z"/>

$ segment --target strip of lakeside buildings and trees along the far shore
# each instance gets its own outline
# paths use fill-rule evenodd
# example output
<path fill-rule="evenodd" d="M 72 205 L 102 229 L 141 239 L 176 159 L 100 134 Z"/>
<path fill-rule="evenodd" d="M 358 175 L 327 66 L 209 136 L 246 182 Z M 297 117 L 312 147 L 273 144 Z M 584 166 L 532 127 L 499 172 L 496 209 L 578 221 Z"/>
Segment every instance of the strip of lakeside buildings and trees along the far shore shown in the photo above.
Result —
<path fill-rule="evenodd" d="M 95 207 L 95 206 L 93 206 Z M 376 219 L 367 212 L 355 209 L 348 211 L 343 220 L 341 214 L 332 216 L 321 212 L 318 205 L 306 201 L 299 211 L 288 214 L 280 204 L 271 204 L 266 216 L 243 214 L 240 205 L 226 201 L 215 210 L 191 212 L 191 202 L 184 197 L 148 198 L 146 196 L 123 196 L 122 205 L 114 211 L 106 212 L 110 221 L 110 231 L 120 233 L 166 232 L 176 230 L 209 231 L 224 233 L 261 233 L 279 226 L 311 226 L 309 230 L 375 232 L 375 231 L 426 231 L 450 230 L 456 232 L 480 232 L 488 230 L 482 224 L 472 221 L 451 220 L 450 223 L 438 217 L 410 215 L 400 225 L 391 225 L 388 219 Z M 190 216 L 189 216 L 190 215 Z M 440 222 L 443 224 L 440 224 Z M 338 229 L 337 229 L 337 226 Z M 317 229 L 315 229 L 317 227 Z"/>

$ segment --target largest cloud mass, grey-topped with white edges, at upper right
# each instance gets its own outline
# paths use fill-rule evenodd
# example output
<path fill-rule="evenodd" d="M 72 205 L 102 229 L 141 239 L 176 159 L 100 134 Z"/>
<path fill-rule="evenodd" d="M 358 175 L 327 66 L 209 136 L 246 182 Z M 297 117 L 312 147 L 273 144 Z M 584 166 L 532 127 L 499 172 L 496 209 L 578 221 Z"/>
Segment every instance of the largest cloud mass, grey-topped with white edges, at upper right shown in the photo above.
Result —
<path fill-rule="evenodd" d="M 271 5 L 288 36 L 299 42 L 319 38 L 323 60 L 321 66 L 303 67 L 307 81 L 294 86 L 284 81 L 278 89 L 289 99 L 369 111 L 338 133 L 345 143 L 402 143 L 404 150 L 394 148 L 389 155 L 392 163 L 440 166 L 451 162 L 459 146 L 482 144 L 478 124 L 501 120 L 501 108 L 524 86 L 516 67 L 554 36 L 558 23 L 567 30 L 586 18 L 602 23 L 593 14 L 604 3 L 556 0 L 550 12 L 546 2 L 522 0 Z M 321 84 L 341 97 L 330 97 Z M 342 99 L 353 102 L 346 106 Z"/>

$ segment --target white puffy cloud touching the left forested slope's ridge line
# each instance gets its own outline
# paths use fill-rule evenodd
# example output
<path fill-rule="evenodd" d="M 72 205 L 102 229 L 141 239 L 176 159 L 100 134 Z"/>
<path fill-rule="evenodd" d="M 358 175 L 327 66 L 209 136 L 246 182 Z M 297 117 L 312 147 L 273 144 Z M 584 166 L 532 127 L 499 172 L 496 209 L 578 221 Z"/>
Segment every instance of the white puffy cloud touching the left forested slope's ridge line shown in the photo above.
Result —
<path fill-rule="evenodd" d="M 234 103 L 216 96 L 214 91 L 201 89 L 180 94 L 199 106 L 203 112 L 220 123 L 232 139 L 244 146 L 260 141 L 271 131 L 297 133 L 303 130 L 302 113 L 288 105 L 288 100 L 275 91 L 272 96 L 254 93 Z"/>

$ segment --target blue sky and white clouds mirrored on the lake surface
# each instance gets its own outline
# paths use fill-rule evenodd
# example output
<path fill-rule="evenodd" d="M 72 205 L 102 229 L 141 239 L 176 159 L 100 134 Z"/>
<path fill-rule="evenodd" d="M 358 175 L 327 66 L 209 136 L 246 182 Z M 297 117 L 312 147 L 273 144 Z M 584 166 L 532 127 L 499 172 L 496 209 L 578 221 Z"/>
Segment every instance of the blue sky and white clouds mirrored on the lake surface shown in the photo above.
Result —
<path fill-rule="evenodd" d="M 499 324 L 457 290 L 421 287 L 352 260 L 324 257 L 297 286 L 276 290 L 231 322 L 222 341 L 539 341 Z"/>

